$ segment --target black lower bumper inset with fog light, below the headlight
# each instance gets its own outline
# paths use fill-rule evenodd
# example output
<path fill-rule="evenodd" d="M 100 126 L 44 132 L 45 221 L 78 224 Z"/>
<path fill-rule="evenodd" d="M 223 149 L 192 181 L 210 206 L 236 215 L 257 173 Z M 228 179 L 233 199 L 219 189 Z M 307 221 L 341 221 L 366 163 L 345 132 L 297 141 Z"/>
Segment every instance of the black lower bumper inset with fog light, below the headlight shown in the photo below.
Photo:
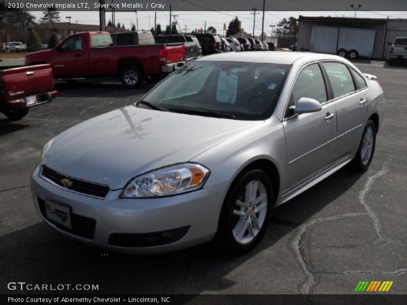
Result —
<path fill-rule="evenodd" d="M 109 236 L 109 245 L 128 248 L 168 245 L 184 237 L 190 227 L 152 233 L 112 233 Z"/>

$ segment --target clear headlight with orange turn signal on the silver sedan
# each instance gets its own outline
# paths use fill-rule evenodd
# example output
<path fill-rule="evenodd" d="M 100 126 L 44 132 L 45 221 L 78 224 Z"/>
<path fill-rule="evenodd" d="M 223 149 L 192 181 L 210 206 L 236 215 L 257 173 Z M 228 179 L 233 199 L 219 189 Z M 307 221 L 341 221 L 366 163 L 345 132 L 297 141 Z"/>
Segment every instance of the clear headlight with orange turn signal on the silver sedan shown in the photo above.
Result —
<path fill-rule="evenodd" d="M 160 168 L 130 180 L 120 197 L 146 198 L 190 192 L 200 189 L 209 174 L 209 169 L 196 163 Z"/>

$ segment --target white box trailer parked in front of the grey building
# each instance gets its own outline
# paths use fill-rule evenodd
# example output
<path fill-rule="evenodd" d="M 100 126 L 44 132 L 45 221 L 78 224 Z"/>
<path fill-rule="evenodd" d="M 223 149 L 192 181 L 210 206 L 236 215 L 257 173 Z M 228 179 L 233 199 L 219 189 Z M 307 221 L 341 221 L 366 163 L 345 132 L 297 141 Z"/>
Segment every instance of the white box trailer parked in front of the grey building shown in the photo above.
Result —
<path fill-rule="evenodd" d="M 371 57 L 375 38 L 373 29 L 314 25 L 311 51 L 351 58 Z"/>

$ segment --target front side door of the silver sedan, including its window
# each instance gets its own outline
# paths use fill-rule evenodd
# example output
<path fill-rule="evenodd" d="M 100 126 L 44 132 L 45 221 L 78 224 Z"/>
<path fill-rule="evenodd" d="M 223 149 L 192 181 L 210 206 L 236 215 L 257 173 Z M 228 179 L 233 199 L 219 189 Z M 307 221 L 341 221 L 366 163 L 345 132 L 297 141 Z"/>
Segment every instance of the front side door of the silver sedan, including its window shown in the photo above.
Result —
<path fill-rule="evenodd" d="M 296 115 L 300 98 L 321 103 L 322 110 Z M 285 192 L 299 186 L 334 161 L 336 137 L 335 103 L 328 101 L 328 91 L 318 64 L 305 66 L 295 81 L 283 120 L 287 170 Z"/>

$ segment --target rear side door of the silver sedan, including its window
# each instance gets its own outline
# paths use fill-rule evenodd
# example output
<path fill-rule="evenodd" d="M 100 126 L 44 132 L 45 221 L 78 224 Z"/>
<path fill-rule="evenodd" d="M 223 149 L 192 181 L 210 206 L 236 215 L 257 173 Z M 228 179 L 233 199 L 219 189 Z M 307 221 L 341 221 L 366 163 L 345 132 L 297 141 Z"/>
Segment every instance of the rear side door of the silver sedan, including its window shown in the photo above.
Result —
<path fill-rule="evenodd" d="M 335 155 L 341 158 L 353 154 L 359 146 L 367 119 L 366 81 L 342 63 L 326 62 L 322 67 L 327 73 L 336 106 L 338 138 Z"/>

